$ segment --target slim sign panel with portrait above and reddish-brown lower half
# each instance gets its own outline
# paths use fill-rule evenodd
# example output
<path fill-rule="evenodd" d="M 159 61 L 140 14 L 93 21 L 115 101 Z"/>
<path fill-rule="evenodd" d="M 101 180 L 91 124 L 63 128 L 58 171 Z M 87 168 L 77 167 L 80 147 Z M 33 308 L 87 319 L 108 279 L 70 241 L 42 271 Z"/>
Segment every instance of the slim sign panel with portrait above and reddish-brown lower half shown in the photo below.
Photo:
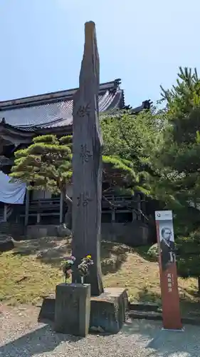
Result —
<path fill-rule="evenodd" d="M 157 243 L 159 246 L 159 273 L 162 295 L 163 327 L 180 330 L 181 313 L 177 281 L 176 253 L 172 211 L 156 211 Z"/>

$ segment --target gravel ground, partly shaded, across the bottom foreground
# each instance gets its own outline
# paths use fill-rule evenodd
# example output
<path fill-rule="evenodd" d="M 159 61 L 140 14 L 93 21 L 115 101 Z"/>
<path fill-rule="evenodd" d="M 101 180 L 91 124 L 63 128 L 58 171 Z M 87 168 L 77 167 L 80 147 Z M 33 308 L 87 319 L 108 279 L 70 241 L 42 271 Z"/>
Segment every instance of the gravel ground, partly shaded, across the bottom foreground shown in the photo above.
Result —
<path fill-rule="evenodd" d="M 186 326 L 184 332 L 160 329 L 159 322 L 128 321 L 114 336 L 89 335 L 75 338 L 53 332 L 52 326 L 37 323 L 33 307 L 0 307 L 1 357 L 199 357 L 200 327 Z M 186 342 L 187 341 L 187 342 Z"/>

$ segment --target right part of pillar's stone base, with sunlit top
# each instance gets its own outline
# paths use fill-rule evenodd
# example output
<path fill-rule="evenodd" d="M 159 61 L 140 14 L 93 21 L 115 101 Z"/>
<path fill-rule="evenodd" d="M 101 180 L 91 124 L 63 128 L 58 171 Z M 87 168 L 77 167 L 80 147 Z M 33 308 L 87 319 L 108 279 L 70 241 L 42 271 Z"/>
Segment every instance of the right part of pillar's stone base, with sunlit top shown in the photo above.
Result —
<path fill-rule="evenodd" d="M 127 290 L 105 288 L 100 296 L 91 297 L 90 331 L 117 333 L 125 323 L 128 312 Z"/>

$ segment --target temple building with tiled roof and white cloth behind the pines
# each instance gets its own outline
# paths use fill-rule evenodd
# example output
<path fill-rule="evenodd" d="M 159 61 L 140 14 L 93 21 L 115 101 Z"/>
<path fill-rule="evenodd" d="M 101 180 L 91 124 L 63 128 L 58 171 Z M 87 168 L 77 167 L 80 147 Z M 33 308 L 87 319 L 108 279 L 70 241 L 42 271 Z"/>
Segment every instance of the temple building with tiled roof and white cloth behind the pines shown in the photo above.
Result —
<path fill-rule="evenodd" d="M 124 91 L 120 85 L 120 79 L 100 84 L 99 109 L 102 120 L 104 114 L 116 116 L 122 109 L 128 108 L 133 114 L 149 109 L 149 100 L 143 101 L 135 109 L 126 106 Z M 16 221 L 25 225 L 63 222 L 67 207 L 61 197 L 53 196 L 47 191 L 28 193 L 24 183 L 10 183 L 8 175 L 14 164 L 14 152 L 31 144 L 33 137 L 72 134 L 73 95 L 76 90 L 0 101 L 0 222 Z M 72 187 L 68 188 L 68 194 L 72 195 Z M 122 204 L 121 210 L 116 212 L 106 202 L 103 203 L 102 219 L 105 221 L 116 221 L 117 213 L 131 213 L 127 206 L 132 198 L 117 198 L 113 195 L 108 198 L 111 201 L 118 199 Z"/>

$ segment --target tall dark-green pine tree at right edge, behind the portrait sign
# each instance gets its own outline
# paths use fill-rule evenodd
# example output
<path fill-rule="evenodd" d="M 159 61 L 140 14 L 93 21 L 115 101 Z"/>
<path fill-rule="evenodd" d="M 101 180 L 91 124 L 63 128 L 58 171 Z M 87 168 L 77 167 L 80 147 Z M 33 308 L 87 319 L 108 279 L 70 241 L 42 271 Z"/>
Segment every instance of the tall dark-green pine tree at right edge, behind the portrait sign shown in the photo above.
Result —
<path fill-rule="evenodd" d="M 180 68 L 177 84 L 167 91 L 162 88 L 162 98 L 168 125 L 157 152 L 161 175 L 156 190 L 176 213 L 179 273 L 199 278 L 200 79 L 196 69 Z"/>

